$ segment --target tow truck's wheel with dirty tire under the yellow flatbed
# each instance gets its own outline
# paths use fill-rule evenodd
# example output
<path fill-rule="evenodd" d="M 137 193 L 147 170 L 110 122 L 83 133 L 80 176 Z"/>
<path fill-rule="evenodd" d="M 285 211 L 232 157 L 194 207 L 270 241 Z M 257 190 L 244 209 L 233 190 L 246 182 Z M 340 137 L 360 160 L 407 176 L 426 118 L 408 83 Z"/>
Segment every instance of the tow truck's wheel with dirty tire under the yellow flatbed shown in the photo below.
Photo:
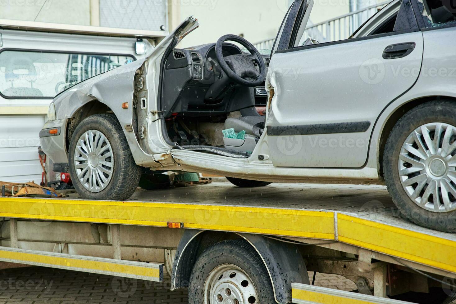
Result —
<path fill-rule="evenodd" d="M 249 243 L 226 240 L 197 259 L 188 287 L 189 304 L 275 303 L 269 274 Z"/>

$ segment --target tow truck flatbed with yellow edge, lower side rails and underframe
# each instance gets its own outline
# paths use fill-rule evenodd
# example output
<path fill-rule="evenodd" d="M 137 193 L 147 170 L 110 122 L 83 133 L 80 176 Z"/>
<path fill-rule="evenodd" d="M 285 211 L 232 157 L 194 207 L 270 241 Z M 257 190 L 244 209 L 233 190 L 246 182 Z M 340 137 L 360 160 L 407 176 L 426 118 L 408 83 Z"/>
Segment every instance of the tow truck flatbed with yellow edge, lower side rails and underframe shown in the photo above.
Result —
<path fill-rule="evenodd" d="M 343 276 L 340 269 L 347 268 L 356 280 L 367 280 L 372 294 L 379 297 L 400 292 L 399 287 L 387 290 L 388 275 L 395 271 L 456 279 L 456 235 L 402 218 L 386 188 L 378 185 L 239 188 L 215 182 L 200 187 L 138 189 L 125 202 L 89 201 L 77 194 L 68 198 L 3 197 L 0 217 L 10 223 L 9 229 L 8 225 L 2 227 L 0 239 L 4 246 L 0 247 L 0 261 L 6 262 L 162 281 L 174 271 L 179 248 L 197 238 L 191 231 L 196 229 L 194 233 L 207 235 L 208 240 L 214 235 L 217 240 L 223 235 L 244 238 L 259 234 L 273 242 L 292 243 L 302 249 L 308 271 Z M 61 248 L 54 250 L 56 244 Z M 332 258 L 332 253 L 341 255 Z M 435 285 L 427 284 L 426 279 L 420 286 Z M 288 292 L 295 303 L 401 303 L 301 287 L 295 285 L 293 293 Z M 323 291 L 327 297 L 340 299 L 312 302 L 315 293 Z"/>

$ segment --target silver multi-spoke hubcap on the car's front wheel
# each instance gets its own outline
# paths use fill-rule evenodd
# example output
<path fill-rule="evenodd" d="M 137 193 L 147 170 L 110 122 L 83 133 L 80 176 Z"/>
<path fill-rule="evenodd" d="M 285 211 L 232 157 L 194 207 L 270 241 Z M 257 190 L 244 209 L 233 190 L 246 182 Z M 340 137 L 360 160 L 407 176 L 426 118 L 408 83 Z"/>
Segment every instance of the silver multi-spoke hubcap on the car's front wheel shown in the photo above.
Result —
<path fill-rule="evenodd" d="M 96 193 L 108 186 L 114 170 L 114 155 L 103 133 L 89 130 L 79 137 L 74 151 L 74 168 L 88 191 Z"/>

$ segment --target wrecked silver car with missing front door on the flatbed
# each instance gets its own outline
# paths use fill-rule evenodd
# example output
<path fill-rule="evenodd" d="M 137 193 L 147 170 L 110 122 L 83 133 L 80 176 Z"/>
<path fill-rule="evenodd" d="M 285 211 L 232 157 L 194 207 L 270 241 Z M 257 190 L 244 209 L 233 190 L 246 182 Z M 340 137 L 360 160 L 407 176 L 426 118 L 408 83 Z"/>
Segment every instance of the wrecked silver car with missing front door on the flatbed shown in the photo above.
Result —
<path fill-rule="evenodd" d="M 58 95 L 41 145 L 87 199 L 129 198 L 143 168 L 239 187 L 385 183 L 405 217 L 454 233 L 456 84 L 431 72 L 455 64 L 455 14 L 434 2 L 394 0 L 317 44 L 312 2 L 296 0 L 270 57 L 235 35 L 177 49 L 198 27 L 188 18 L 147 59 Z"/>

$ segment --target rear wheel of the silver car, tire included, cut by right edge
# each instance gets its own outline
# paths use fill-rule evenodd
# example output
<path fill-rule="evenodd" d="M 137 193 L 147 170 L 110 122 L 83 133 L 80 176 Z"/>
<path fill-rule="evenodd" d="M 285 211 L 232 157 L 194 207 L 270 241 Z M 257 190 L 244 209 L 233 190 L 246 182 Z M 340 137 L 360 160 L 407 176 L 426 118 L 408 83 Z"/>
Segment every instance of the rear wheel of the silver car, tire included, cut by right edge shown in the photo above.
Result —
<path fill-rule="evenodd" d="M 448 233 L 456 233 L 456 203 L 449 203 L 449 207 L 447 208 L 442 203 L 444 202 L 442 193 L 447 196 L 447 202 L 453 201 L 456 195 L 454 197 L 450 196 L 445 191 L 449 186 L 440 187 L 440 185 L 444 183 L 447 185 L 447 182 L 443 181 L 443 179 L 449 178 L 447 176 L 450 173 L 453 178 L 453 174 L 455 173 L 450 172 L 453 170 L 453 167 L 450 166 L 452 163 L 440 155 L 445 154 L 445 149 L 438 147 L 442 146 L 447 140 L 445 137 L 446 130 L 449 130 L 448 137 L 450 138 L 448 140 L 448 147 L 451 146 L 450 142 L 456 139 L 456 135 L 451 135 L 451 132 L 453 132 L 452 127 L 456 126 L 455 111 L 456 104 L 453 101 L 430 101 L 408 111 L 394 126 L 383 153 L 385 182 L 394 203 L 402 215 L 420 226 Z M 432 125 L 435 125 L 434 131 L 430 131 L 433 128 Z M 421 126 L 424 127 L 421 128 Z M 444 130 L 442 131 L 442 129 Z M 436 130 L 441 131 L 438 132 L 440 134 L 438 138 L 434 137 Z M 420 135 L 420 132 L 425 134 L 426 137 L 423 134 Z M 432 135 L 432 132 L 434 132 L 434 135 Z M 454 132 L 456 134 L 456 131 Z M 435 138 L 435 144 L 426 144 L 425 138 L 429 138 L 429 140 Z M 421 148 L 417 144 L 418 139 L 421 142 Z M 409 152 L 411 148 L 416 151 L 413 150 L 413 153 Z M 426 149 L 429 149 L 429 151 Z M 433 150 L 439 152 L 435 152 L 434 155 Z M 448 148 L 446 150 L 451 149 Z M 420 151 L 424 151 L 424 153 Z M 453 153 L 448 157 L 456 154 L 456 152 Z M 420 158 L 415 154 L 424 156 Z M 404 162 L 405 157 L 410 162 Z M 443 160 L 436 160 L 436 158 L 442 158 Z M 419 171 L 421 168 L 423 168 L 423 171 Z M 399 170 L 401 170 L 401 173 Z M 413 172 L 415 170 L 418 171 Z M 409 172 L 413 173 L 408 174 Z M 443 174 L 443 176 L 438 177 L 440 174 Z M 413 177 L 415 177 L 414 180 L 411 179 Z M 420 182 L 407 186 L 417 179 Z M 426 185 L 425 183 L 428 180 L 430 182 Z M 454 182 L 448 183 L 448 185 L 455 187 Z M 423 188 L 421 189 L 421 187 Z M 428 189 L 428 187 L 430 188 Z M 434 193 L 439 193 L 436 195 L 437 200 L 434 200 L 434 195 L 429 194 L 434 188 L 436 189 Z M 412 197 L 416 197 L 415 201 Z M 444 209 L 441 209 L 442 206 Z M 445 211 L 447 209 L 448 212 Z"/>

